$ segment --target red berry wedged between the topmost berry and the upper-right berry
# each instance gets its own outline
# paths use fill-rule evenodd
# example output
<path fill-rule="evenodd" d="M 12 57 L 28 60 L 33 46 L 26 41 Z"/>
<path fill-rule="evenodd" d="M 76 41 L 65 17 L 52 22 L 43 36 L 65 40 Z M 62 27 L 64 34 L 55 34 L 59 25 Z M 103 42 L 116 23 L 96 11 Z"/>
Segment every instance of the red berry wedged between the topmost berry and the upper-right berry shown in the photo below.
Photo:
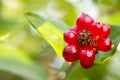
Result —
<path fill-rule="evenodd" d="M 92 33 L 92 37 L 96 38 L 100 36 L 100 33 L 102 31 L 102 26 L 100 22 L 94 22 L 92 26 L 89 28 L 89 31 Z"/>

